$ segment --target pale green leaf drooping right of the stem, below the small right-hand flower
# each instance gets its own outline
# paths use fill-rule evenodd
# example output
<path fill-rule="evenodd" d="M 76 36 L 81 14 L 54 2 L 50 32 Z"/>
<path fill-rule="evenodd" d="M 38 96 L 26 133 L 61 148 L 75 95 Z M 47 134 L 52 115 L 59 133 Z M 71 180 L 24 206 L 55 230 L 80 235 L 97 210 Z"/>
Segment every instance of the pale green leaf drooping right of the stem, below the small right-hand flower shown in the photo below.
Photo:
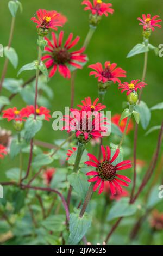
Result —
<path fill-rule="evenodd" d="M 151 111 L 149 110 L 147 104 L 143 101 L 140 101 L 134 109 L 140 114 L 141 125 L 144 130 L 146 130 L 149 125 L 149 121 L 151 120 Z"/>

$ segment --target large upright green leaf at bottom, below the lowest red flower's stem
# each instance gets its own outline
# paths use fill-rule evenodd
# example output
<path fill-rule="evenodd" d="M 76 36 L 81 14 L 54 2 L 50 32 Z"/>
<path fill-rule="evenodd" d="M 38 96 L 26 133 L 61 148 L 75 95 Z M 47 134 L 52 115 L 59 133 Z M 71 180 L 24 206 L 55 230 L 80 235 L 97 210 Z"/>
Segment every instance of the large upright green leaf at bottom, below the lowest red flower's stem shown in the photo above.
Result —
<path fill-rule="evenodd" d="M 79 212 L 70 214 L 69 245 L 77 245 L 82 240 L 87 230 L 91 227 L 91 221 L 91 217 L 86 213 L 82 218 L 79 217 Z"/>

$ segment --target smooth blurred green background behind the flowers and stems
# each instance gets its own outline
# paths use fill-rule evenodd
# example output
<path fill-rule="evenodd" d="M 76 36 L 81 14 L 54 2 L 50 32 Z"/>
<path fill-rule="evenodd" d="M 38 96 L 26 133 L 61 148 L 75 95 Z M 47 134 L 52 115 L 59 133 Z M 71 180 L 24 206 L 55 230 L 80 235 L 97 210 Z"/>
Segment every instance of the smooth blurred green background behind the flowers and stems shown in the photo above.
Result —
<path fill-rule="evenodd" d="M 89 30 L 89 11 L 84 11 L 80 0 L 21 0 L 23 5 L 23 13 L 16 17 L 16 26 L 14 31 L 14 38 L 12 47 L 14 47 L 19 56 L 19 64 L 17 70 L 14 70 L 9 64 L 7 77 L 16 78 L 17 71 L 22 65 L 32 62 L 37 58 L 37 33 L 35 23 L 30 21 L 34 16 L 35 11 L 39 8 L 57 10 L 64 14 L 68 22 L 64 26 L 65 37 L 73 32 L 74 35 L 79 35 L 81 40 L 78 47 L 82 46 L 85 36 Z M 108 2 L 108 1 L 106 1 Z M 143 69 L 143 54 L 127 59 L 127 53 L 139 42 L 142 42 L 142 26 L 139 26 L 137 17 L 141 17 L 143 13 L 151 13 L 152 16 L 160 15 L 162 18 L 162 0 L 110 0 L 115 9 L 114 15 L 103 17 L 101 23 L 96 29 L 95 34 L 90 42 L 86 53 L 89 57 L 89 63 L 83 70 L 79 70 L 75 82 L 75 105 L 79 103 L 84 97 L 91 96 L 92 99 L 97 97 L 97 80 L 89 77 L 90 70 L 88 65 L 106 60 L 116 62 L 118 66 L 127 71 L 126 81 L 139 78 L 142 76 Z M 1 36 L 0 43 L 6 46 L 8 44 L 9 29 L 11 22 L 11 15 L 8 10 L 8 1 L 1 0 L 0 2 L 1 15 Z M 158 46 L 163 43 L 162 29 L 156 28 L 153 32 L 151 44 Z M 154 52 L 149 52 L 148 69 L 146 82 L 148 86 L 143 92 L 142 99 L 149 107 L 162 101 L 162 60 L 163 58 L 156 57 Z M 0 58 L 0 72 L 2 71 L 4 58 Z M 23 72 L 20 78 L 24 80 L 34 75 L 34 71 Z M 124 80 L 122 80 L 124 81 Z M 51 112 L 60 110 L 64 111 L 65 106 L 70 105 L 70 80 L 65 80 L 59 74 L 55 75 L 49 85 L 53 89 L 54 99 L 51 102 Z M 8 93 L 3 90 L 3 95 Z M 122 102 L 126 100 L 126 94 L 121 94 L 117 90 L 117 84 L 113 84 L 106 94 L 105 103 L 108 111 L 112 115 L 115 113 L 122 113 Z M 24 107 L 24 102 L 20 96 L 16 96 L 11 102 L 11 107 Z M 162 114 L 161 111 L 152 112 L 152 120 L 149 127 L 160 125 Z M 7 123 L 6 120 L 1 121 L 2 127 L 8 127 L 12 130 L 12 124 Z M 148 128 L 149 128 L 148 127 Z M 134 133 L 130 133 L 132 141 Z M 44 123 L 42 130 L 36 136 L 42 141 L 53 142 L 54 139 L 66 137 L 66 132 L 52 130 L 51 122 Z M 153 148 L 156 144 L 158 132 L 153 132 L 150 136 L 145 137 L 145 131 L 141 125 L 139 127 L 139 138 L 137 147 L 137 157 L 149 161 L 152 157 Z M 107 143 L 107 142 L 105 142 Z M 4 178 L 4 170 L 17 166 L 17 160 L 14 162 L 6 157 L 1 164 L 1 178 Z"/>

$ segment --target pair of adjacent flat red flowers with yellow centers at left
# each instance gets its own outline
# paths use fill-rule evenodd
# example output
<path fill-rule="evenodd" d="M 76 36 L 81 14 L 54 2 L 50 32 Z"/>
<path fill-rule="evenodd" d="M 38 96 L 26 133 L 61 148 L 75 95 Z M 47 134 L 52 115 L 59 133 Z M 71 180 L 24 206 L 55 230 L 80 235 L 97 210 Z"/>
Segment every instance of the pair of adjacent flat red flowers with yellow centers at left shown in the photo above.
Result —
<path fill-rule="evenodd" d="M 35 109 L 33 105 L 26 106 L 21 110 L 18 110 L 16 107 L 9 108 L 3 110 L 3 118 L 7 118 L 8 121 L 15 120 L 15 121 L 26 121 L 24 118 L 28 118 L 31 114 L 35 113 Z M 50 111 L 46 107 L 38 107 L 36 108 L 36 115 L 44 115 L 45 120 L 49 121 L 51 115 L 49 114 Z"/>

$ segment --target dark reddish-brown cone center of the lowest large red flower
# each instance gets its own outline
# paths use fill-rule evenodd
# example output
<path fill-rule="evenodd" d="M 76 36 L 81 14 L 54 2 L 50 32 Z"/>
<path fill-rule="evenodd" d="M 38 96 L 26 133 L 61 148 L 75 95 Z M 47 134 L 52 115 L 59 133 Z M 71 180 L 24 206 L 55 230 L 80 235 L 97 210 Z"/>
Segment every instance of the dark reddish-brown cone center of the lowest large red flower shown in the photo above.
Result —
<path fill-rule="evenodd" d="M 116 167 L 112 166 L 110 161 L 105 161 L 102 162 L 98 167 L 97 167 L 97 172 L 98 176 L 102 180 L 113 180 L 116 175 Z"/>

